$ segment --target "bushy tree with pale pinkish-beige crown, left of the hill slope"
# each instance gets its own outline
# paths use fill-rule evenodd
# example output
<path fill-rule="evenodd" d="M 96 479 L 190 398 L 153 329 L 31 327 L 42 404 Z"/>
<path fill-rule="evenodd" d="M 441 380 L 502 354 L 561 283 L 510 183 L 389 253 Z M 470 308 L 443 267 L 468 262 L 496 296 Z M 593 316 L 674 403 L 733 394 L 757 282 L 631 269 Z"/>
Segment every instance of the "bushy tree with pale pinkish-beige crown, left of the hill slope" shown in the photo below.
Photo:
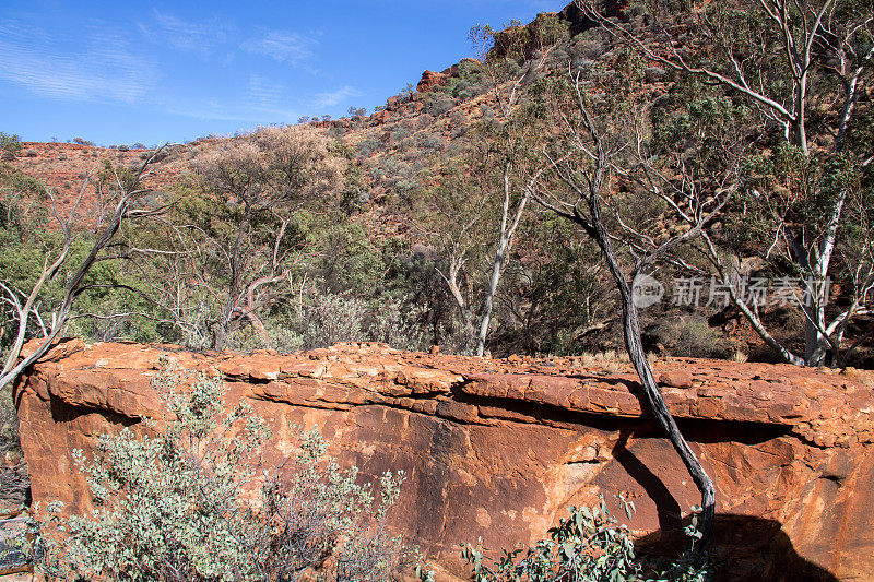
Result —
<path fill-rule="evenodd" d="M 307 252 L 298 211 L 339 189 L 339 164 L 314 131 L 291 126 L 261 129 L 197 161 L 203 193 L 178 205 L 170 244 L 210 306 L 203 316 L 213 348 L 223 349 L 246 321 L 263 335 L 259 310 Z"/>

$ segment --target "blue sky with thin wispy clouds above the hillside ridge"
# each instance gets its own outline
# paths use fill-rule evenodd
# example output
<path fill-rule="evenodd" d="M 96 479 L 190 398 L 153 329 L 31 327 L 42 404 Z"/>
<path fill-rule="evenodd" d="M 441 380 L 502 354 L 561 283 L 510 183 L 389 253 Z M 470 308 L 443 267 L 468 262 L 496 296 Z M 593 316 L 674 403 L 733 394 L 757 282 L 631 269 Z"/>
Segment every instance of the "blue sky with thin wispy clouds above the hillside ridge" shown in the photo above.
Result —
<path fill-rule="evenodd" d="M 0 131 L 145 144 L 345 115 L 569 0 L 0 0 Z"/>

